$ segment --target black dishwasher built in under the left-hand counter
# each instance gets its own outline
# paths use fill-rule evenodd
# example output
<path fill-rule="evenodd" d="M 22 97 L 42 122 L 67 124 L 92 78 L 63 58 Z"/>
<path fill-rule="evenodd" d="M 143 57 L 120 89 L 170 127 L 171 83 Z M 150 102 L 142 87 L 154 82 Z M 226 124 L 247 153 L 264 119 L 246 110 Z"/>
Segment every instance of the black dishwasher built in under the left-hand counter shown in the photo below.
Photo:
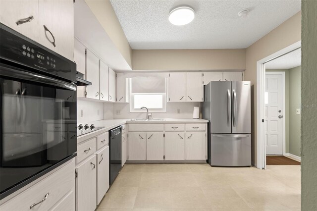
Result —
<path fill-rule="evenodd" d="M 112 185 L 121 170 L 121 131 L 122 126 L 109 130 L 109 183 Z"/>

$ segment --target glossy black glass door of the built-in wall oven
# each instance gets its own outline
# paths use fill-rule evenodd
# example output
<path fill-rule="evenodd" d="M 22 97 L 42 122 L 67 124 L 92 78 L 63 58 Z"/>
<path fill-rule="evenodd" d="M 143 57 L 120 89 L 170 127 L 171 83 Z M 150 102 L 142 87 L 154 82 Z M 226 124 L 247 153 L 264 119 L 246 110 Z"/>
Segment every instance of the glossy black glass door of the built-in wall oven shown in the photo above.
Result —
<path fill-rule="evenodd" d="M 71 83 L 4 64 L 0 82 L 2 195 L 76 153 L 77 114 Z"/>

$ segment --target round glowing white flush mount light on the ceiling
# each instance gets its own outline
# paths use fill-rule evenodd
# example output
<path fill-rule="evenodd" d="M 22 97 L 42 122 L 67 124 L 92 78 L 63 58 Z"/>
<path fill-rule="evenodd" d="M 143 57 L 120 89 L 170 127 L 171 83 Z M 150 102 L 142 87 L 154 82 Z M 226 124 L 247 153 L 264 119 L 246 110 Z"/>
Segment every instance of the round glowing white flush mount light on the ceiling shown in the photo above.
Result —
<path fill-rule="evenodd" d="M 195 18 L 195 11 L 189 6 L 179 6 L 170 11 L 168 20 L 176 26 L 186 25 Z"/>

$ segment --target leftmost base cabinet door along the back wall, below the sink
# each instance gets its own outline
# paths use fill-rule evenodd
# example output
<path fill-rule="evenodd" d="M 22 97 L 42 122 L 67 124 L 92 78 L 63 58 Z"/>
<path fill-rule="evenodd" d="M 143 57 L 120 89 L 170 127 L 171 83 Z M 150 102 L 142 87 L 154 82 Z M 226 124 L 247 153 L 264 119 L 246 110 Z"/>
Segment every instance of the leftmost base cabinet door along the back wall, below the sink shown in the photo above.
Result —
<path fill-rule="evenodd" d="M 129 132 L 129 160 L 146 160 L 146 133 Z"/>

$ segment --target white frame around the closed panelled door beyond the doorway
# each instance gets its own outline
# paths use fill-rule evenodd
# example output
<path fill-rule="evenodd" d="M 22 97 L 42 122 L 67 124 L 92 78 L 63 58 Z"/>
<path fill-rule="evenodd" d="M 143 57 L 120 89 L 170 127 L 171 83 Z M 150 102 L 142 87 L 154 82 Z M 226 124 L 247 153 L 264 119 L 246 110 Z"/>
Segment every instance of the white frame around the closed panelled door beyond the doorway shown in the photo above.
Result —
<path fill-rule="evenodd" d="M 264 64 L 264 67 L 265 67 L 265 64 Z M 285 120 L 285 109 L 286 109 L 286 90 L 285 90 L 285 72 L 282 72 L 282 71 L 274 71 L 274 72 L 266 72 L 265 71 L 265 76 L 266 74 L 270 74 L 270 75 L 282 75 L 282 115 L 283 115 L 283 127 L 282 127 L 282 155 L 285 156 L 286 154 L 286 120 Z M 264 89 L 264 92 L 265 92 L 265 89 Z M 264 102 L 265 104 L 265 102 Z M 264 106 L 264 109 L 265 109 L 265 106 Z M 265 122 L 265 115 L 264 115 L 264 122 Z M 264 132 L 265 132 L 265 124 L 264 124 Z M 265 136 L 265 134 L 264 134 Z M 265 146 L 265 142 L 264 142 L 264 148 L 265 148 L 265 165 L 266 165 L 266 146 Z M 265 168 L 265 167 L 264 167 Z"/>

